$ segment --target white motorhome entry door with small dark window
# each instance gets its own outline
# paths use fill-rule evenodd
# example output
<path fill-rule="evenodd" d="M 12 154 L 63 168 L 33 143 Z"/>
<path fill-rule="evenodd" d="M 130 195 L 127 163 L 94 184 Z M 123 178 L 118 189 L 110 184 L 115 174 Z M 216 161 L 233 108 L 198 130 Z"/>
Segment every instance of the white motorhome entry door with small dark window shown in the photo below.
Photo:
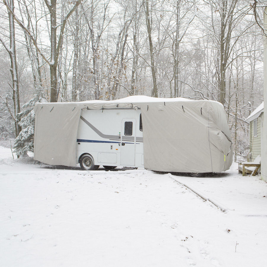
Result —
<path fill-rule="evenodd" d="M 120 164 L 134 166 L 135 164 L 135 119 L 123 119 L 120 141 Z"/>

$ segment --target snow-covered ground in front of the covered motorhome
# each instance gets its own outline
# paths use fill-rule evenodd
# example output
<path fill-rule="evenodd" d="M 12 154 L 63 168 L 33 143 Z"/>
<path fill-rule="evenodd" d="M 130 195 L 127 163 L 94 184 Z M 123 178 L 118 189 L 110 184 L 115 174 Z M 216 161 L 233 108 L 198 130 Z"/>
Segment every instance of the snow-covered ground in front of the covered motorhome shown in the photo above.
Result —
<path fill-rule="evenodd" d="M 1 266 L 267 265 L 267 184 L 236 164 L 192 178 L 33 163 L 0 147 Z"/>

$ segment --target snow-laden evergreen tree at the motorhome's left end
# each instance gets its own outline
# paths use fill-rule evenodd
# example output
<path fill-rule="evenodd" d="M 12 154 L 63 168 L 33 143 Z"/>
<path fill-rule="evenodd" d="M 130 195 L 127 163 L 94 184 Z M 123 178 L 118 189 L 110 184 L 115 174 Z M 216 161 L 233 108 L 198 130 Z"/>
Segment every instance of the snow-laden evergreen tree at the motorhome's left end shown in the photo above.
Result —
<path fill-rule="evenodd" d="M 18 156 L 34 151 L 34 105 L 37 102 L 47 102 L 47 100 L 42 94 L 34 95 L 34 98 L 23 105 L 23 111 L 18 114 L 19 125 L 22 128 L 14 143 L 14 152 Z"/>

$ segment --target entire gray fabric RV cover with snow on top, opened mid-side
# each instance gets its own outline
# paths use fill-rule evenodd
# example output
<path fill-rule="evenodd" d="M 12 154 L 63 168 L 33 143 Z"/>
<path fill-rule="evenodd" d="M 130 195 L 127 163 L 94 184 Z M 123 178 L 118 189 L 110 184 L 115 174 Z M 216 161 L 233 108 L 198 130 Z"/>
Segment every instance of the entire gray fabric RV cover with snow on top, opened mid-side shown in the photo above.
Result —
<path fill-rule="evenodd" d="M 232 142 L 222 104 L 147 96 L 114 101 L 37 103 L 34 159 L 51 165 L 76 166 L 81 109 L 129 107 L 141 108 L 145 169 L 218 172 L 230 168 Z"/>

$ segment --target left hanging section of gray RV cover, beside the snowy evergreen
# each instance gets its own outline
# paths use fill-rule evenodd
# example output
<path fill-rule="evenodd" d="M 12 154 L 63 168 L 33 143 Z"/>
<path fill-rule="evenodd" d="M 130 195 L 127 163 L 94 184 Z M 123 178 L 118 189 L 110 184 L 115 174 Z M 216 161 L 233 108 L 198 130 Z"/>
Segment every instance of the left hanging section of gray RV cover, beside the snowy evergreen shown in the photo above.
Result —
<path fill-rule="evenodd" d="M 76 166 L 77 128 L 81 109 L 35 104 L 34 159 L 50 165 Z"/>

